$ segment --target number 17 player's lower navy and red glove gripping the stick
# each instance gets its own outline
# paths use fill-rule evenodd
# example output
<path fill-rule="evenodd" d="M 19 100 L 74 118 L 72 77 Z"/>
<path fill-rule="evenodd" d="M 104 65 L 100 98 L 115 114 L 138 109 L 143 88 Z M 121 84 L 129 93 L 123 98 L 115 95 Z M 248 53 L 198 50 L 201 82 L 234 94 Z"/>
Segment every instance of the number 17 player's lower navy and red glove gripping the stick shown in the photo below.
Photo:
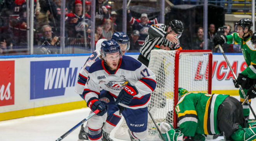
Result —
<path fill-rule="evenodd" d="M 107 112 L 107 106 L 102 104 L 96 97 L 92 97 L 88 100 L 87 107 L 89 107 L 93 112 L 99 109 L 100 112 L 97 114 L 98 116 L 103 116 Z"/>

